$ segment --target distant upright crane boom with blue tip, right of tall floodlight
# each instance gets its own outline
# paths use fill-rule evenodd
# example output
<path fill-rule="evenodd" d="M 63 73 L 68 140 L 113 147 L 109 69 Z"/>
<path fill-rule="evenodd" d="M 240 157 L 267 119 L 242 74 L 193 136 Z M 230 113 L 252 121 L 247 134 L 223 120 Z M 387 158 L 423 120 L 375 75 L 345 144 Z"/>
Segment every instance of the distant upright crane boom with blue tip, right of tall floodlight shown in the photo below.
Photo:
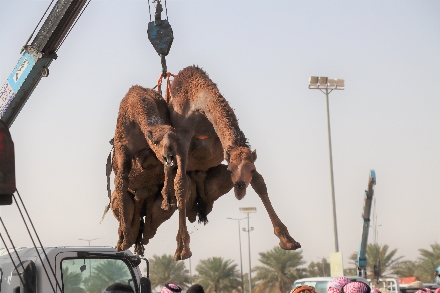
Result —
<path fill-rule="evenodd" d="M 370 214 L 373 202 L 374 186 L 376 185 L 376 172 L 370 170 L 370 178 L 368 179 L 368 190 L 365 190 L 364 211 L 362 213 L 362 238 L 359 246 L 359 255 L 356 259 L 358 268 L 358 276 L 367 277 L 367 243 L 368 230 L 370 228 Z"/>

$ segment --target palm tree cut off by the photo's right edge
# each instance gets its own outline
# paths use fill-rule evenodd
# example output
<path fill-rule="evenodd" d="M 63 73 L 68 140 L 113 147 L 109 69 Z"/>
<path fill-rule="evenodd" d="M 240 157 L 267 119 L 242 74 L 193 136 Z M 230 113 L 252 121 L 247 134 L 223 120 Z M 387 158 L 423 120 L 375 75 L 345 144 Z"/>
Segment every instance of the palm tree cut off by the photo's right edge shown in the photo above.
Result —
<path fill-rule="evenodd" d="M 419 249 L 420 266 L 417 273 L 422 282 L 435 281 L 434 272 L 440 265 L 440 244 L 435 242 L 431 244 L 431 251 L 427 249 Z"/>

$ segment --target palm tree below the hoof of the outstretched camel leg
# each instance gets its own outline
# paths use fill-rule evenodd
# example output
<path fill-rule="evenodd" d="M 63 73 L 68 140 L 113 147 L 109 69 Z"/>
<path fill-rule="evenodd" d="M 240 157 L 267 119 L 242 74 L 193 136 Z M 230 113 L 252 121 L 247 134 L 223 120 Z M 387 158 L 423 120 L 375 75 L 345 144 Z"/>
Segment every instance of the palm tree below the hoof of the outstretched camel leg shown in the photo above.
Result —
<path fill-rule="evenodd" d="M 276 246 L 267 252 L 260 252 L 259 261 L 263 266 L 256 266 L 255 293 L 288 292 L 293 282 L 298 279 L 298 266 L 305 264 L 302 251 L 284 250 Z"/>

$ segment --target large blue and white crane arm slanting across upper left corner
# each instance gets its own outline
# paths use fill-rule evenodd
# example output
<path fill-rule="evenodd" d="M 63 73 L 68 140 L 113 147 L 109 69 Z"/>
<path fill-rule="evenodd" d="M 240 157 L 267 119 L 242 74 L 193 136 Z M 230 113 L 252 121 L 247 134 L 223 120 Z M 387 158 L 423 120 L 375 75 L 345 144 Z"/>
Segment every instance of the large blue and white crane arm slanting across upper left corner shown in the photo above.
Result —
<path fill-rule="evenodd" d="M 0 119 L 11 127 L 18 113 L 38 85 L 49 74 L 49 66 L 57 58 L 62 44 L 87 0 L 58 0 L 53 6 L 31 45 L 23 47 L 9 78 L 0 88 Z"/>

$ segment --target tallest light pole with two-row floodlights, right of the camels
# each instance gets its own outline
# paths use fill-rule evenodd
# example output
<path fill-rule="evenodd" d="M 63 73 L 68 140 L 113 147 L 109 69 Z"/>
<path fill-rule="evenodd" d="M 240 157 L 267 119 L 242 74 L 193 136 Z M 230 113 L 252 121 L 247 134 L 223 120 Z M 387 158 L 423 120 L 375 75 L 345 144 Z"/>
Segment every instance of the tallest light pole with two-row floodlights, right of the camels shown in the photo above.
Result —
<path fill-rule="evenodd" d="M 343 90 L 344 89 L 344 80 L 343 79 L 328 78 L 325 76 L 319 76 L 319 77 L 318 76 L 311 76 L 310 80 L 309 80 L 309 89 L 320 90 L 321 92 L 323 92 L 325 94 L 326 102 L 327 102 L 327 129 L 328 129 L 328 149 L 329 149 L 329 154 L 330 154 L 330 180 L 331 180 L 331 184 L 332 184 L 333 230 L 334 230 L 334 234 L 335 234 L 335 250 L 336 250 L 336 252 L 339 252 L 338 225 L 336 222 L 335 184 L 334 184 L 334 178 L 333 178 L 332 140 L 331 140 L 331 133 L 330 133 L 330 110 L 329 110 L 328 95 L 333 90 Z"/>

